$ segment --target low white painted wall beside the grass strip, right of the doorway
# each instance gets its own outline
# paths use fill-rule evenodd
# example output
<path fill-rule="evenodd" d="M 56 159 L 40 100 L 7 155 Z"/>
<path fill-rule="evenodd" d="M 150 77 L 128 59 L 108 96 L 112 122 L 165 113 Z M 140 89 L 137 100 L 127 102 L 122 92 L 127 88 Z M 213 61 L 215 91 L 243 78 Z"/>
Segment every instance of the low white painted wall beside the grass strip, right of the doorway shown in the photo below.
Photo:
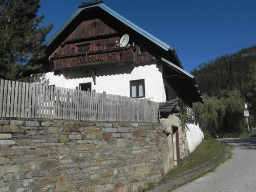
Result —
<path fill-rule="evenodd" d="M 186 136 L 190 153 L 192 153 L 197 146 L 204 139 L 204 134 L 198 125 L 186 124 Z"/>

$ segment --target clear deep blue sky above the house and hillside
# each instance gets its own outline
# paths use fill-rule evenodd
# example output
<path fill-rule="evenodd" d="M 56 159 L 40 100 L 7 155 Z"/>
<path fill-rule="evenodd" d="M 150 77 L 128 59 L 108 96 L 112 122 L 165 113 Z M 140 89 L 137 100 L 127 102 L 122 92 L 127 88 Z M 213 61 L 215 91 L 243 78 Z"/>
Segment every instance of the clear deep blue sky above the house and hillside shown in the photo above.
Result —
<path fill-rule="evenodd" d="M 58 28 L 86 0 L 41 0 L 41 25 Z M 104 0 L 104 4 L 175 48 L 185 70 L 256 45 L 255 0 Z"/>

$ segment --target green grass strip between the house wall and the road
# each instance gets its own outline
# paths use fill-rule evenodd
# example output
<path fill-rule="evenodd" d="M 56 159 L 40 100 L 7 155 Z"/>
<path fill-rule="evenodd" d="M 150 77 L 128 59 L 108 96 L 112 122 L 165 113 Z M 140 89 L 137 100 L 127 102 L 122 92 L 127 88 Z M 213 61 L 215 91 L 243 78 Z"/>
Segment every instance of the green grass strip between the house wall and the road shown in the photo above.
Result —
<path fill-rule="evenodd" d="M 220 155 L 224 146 L 225 143 L 220 141 L 204 139 L 202 143 L 196 148 L 196 150 L 189 156 L 182 159 L 180 165 L 170 170 L 170 172 L 163 177 L 160 183 L 166 183 L 169 180 L 177 178 L 179 175 L 187 172 L 188 170 L 211 161 L 212 158 Z"/>

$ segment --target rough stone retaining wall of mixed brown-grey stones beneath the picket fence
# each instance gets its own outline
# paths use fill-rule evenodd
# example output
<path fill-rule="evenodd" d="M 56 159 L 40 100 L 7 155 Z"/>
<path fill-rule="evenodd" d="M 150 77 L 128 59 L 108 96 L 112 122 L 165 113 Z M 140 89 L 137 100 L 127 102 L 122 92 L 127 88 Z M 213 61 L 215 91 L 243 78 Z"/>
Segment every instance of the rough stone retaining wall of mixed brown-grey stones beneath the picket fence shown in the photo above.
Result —
<path fill-rule="evenodd" d="M 0 191 L 136 191 L 166 143 L 161 124 L 0 119 Z"/>

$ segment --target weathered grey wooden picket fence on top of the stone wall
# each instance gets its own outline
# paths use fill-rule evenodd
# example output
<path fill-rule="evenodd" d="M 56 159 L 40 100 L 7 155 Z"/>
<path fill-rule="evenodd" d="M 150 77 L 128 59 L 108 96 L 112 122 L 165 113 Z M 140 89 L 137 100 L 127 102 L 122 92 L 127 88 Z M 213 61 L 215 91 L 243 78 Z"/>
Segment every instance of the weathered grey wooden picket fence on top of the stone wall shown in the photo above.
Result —
<path fill-rule="evenodd" d="M 0 117 L 158 122 L 146 99 L 0 79 Z"/>

